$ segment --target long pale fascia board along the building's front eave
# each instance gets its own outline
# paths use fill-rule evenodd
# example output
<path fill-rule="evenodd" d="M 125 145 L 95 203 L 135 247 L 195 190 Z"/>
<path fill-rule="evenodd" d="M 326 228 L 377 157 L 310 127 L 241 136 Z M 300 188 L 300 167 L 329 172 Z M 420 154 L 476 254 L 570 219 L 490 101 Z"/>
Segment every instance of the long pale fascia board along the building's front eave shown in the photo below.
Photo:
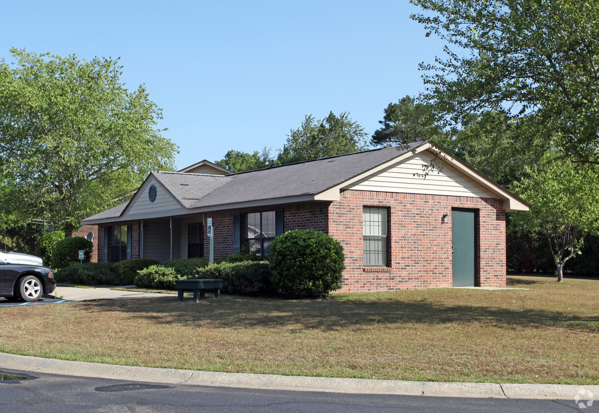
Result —
<path fill-rule="evenodd" d="M 285 198 L 269 198 L 269 199 L 259 199 L 257 201 L 233 202 L 232 204 L 202 206 L 200 208 L 189 208 L 189 209 L 183 208 L 184 210 L 183 209 L 165 209 L 163 211 L 152 211 L 152 212 L 146 212 L 144 214 L 120 215 L 119 217 L 102 218 L 102 219 L 98 219 L 98 220 L 83 220 L 83 221 L 81 221 L 81 223 L 86 224 L 86 225 L 91 225 L 91 224 L 116 223 L 119 221 L 139 221 L 139 220 L 147 220 L 147 219 L 155 219 L 155 218 L 181 217 L 183 215 L 202 214 L 204 212 L 227 211 L 230 209 L 244 209 L 244 208 L 253 208 L 256 206 L 293 204 L 295 202 L 310 202 L 310 201 L 319 201 L 319 200 L 314 199 L 314 195 L 287 196 Z"/>

